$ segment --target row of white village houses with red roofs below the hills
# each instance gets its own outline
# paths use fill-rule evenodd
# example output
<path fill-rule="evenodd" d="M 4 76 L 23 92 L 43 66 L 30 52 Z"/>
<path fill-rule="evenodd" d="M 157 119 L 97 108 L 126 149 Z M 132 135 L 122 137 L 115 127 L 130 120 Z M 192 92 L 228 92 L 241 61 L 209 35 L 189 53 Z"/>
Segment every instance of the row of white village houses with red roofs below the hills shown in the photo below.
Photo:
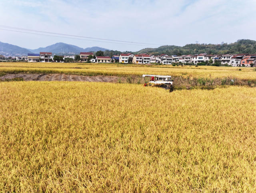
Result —
<path fill-rule="evenodd" d="M 76 58 L 76 56 L 78 56 Z M 169 56 L 168 54 L 120 54 L 110 56 L 95 56 L 93 52 L 80 52 L 76 56 L 53 56 L 52 52 L 40 52 L 40 54 L 28 54 L 28 56 L 8 57 L 0 55 L 1 61 L 24 62 L 88 62 L 88 63 L 122 63 L 122 64 L 185 64 L 185 65 L 214 65 L 233 67 L 255 67 L 256 54 L 194 54 Z"/>

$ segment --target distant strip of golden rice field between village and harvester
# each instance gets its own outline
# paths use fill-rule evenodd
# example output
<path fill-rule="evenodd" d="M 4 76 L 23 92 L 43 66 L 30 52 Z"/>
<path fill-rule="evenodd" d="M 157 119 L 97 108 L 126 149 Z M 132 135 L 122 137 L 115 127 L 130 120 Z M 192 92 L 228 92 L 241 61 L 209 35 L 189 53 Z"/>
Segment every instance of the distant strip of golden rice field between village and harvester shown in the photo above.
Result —
<path fill-rule="evenodd" d="M 2 62 L 1 73 L 46 73 L 106 76 L 141 76 L 142 74 L 160 74 L 182 76 L 184 78 L 239 78 L 256 80 L 255 68 L 215 67 L 215 66 L 142 66 L 122 64 L 74 64 L 74 63 L 22 63 Z"/>

